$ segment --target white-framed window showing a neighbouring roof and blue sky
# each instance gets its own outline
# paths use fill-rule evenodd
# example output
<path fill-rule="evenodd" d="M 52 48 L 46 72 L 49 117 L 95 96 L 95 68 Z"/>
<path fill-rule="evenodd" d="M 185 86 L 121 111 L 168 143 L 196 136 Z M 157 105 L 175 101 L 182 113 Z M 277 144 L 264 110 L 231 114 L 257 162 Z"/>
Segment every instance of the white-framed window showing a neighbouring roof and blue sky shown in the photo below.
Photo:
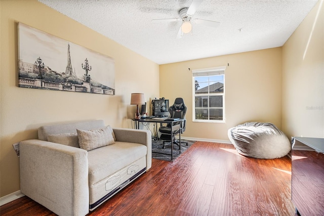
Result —
<path fill-rule="evenodd" d="M 225 68 L 192 70 L 194 122 L 225 122 Z"/>

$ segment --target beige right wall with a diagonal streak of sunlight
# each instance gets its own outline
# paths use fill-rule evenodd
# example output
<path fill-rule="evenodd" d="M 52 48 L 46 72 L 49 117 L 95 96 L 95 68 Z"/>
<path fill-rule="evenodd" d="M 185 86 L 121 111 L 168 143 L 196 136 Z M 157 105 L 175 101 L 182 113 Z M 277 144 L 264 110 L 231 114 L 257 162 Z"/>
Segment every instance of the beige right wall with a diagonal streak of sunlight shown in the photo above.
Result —
<path fill-rule="evenodd" d="M 324 5 L 319 1 L 282 48 L 282 129 L 324 138 Z"/>

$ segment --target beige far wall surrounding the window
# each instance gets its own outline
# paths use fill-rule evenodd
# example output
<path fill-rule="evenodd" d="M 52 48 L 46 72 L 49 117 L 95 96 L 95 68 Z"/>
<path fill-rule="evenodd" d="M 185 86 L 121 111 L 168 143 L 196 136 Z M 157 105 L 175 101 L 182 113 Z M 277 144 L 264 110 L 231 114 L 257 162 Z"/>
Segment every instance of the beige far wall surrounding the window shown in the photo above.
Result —
<path fill-rule="evenodd" d="M 227 66 L 226 123 L 192 122 L 191 70 L 217 66 Z M 228 140 L 227 130 L 247 121 L 272 122 L 280 128 L 281 48 L 160 65 L 160 96 L 171 104 L 176 97 L 184 98 L 185 137 Z"/>

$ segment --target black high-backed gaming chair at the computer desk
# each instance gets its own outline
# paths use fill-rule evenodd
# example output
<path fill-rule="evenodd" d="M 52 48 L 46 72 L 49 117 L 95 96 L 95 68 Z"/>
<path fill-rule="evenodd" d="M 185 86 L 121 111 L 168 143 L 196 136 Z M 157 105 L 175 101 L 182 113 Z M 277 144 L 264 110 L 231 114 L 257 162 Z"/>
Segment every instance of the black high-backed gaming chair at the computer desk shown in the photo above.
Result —
<path fill-rule="evenodd" d="M 173 131 L 173 136 L 172 140 L 171 138 L 171 125 L 170 123 L 167 124 L 167 126 L 161 126 L 159 127 L 158 131 L 161 133 L 160 134 L 160 139 L 164 140 L 163 141 L 163 148 L 165 148 L 165 142 L 169 141 L 170 143 L 174 143 L 180 148 L 180 143 L 176 140 L 176 135 L 179 133 L 183 133 L 186 130 L 186 112 L 187 112 L 187 106 L 184 104 L 184 101 L 181 97 L 177 97 L 174 101 L 174 104 L 169 107 L 169 113 L 170 113 L 170 118 L 179 118 L 182 119 L 182 128 Z M 180 124 L 180 123 L 178 123 Z M 188 146 L 188 142 L 183 142 L 186 143 Z"/>

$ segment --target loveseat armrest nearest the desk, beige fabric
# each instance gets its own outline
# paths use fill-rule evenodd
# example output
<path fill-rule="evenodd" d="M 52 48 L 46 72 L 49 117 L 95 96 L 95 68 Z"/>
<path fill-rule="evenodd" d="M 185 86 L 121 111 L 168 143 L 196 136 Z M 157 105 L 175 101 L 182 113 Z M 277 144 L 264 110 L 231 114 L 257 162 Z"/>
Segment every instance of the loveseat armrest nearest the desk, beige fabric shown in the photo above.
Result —
<path fill-rule="evenodd" d="M 116 141 L 140 143 L 147 147 L 146 171 L 152 166 L 152 135 L 149 130 L 113 128 Z"/>

